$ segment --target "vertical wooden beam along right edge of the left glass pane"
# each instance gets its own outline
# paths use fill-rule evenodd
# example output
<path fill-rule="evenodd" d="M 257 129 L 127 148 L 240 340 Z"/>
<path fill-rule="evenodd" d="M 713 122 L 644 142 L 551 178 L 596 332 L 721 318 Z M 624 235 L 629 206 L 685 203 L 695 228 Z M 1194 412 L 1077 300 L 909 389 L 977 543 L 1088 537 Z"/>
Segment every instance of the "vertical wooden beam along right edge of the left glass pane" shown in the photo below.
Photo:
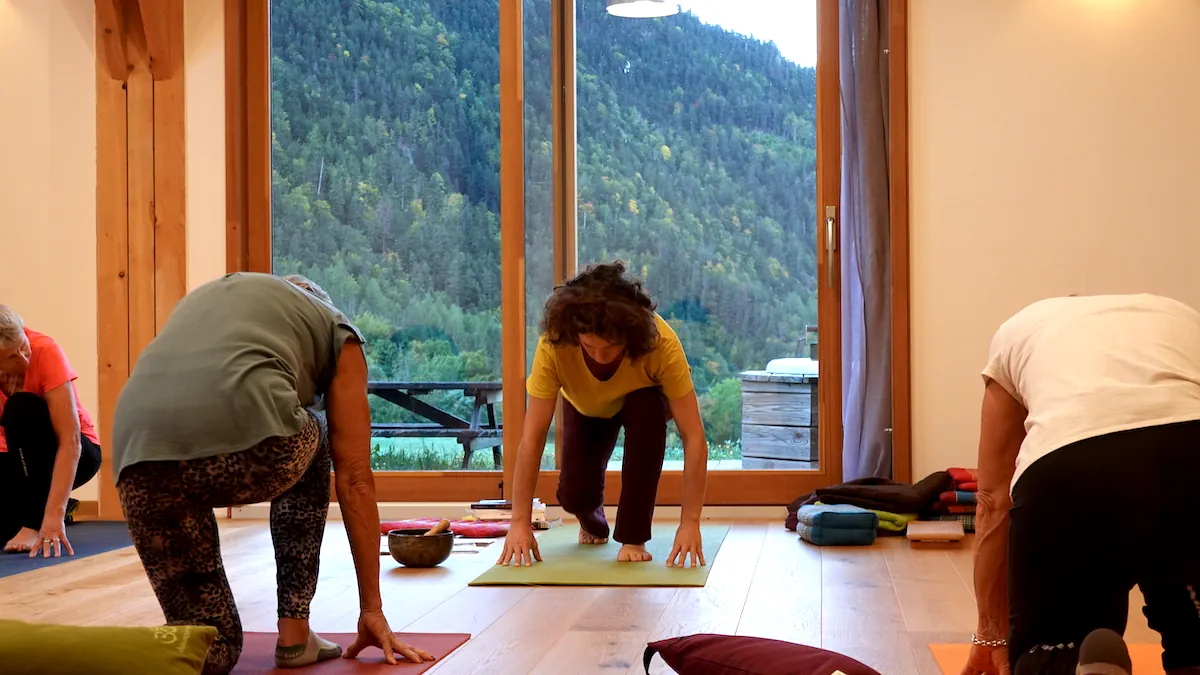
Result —
<path fill-rule="evenodd" d="M 521 0 L 500 0 L 500 360 L 504 494 L 512 496 L 526 408 L 524 74 Z"/>

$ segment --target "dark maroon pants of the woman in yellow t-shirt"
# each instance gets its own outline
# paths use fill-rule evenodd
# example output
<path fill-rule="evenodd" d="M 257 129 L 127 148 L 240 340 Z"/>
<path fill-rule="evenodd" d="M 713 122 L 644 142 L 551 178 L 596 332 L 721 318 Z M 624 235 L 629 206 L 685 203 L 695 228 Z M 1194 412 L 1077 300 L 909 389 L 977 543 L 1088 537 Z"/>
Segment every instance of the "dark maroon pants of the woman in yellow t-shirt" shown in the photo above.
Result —
<path fill-rule="evenodd" d="M 611 419 L 587 417 L 563 401 L 563 453 L 558 474 L 558 503 L 580 519 L 594 537 L 608 536 L 604 515 L 604 478 L 617 434 L 625 429 L 625 456 L 620 464 L 620 501 L 617 532 L 623 544 L 650 539 L 654 497 L 667 449 L 666 396 L 658 387 L 625 396 L 625 405 Z"/>

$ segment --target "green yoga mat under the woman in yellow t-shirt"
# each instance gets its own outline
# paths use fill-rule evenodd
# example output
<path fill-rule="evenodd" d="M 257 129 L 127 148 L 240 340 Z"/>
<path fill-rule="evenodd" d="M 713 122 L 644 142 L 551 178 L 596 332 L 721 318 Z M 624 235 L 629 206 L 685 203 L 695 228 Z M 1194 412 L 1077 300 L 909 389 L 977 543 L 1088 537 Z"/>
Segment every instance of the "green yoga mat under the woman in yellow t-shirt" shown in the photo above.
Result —
<path fill-rule="evenodd" d="M 716 551 L 730 531 L 724 525 L 702 525 L 704 561 L 700 567 L 667 567 L 667 554 L 674 544 L 676 526 L 655 525 L 646 548 L 654 555 L 649 562 L 617 562 L 620 544 L 608 539 L 604 545 L 578 542 L 577 525 L 554 527 L 538 537 L 541 562 L 533 566 L 494 565 L 470 586 L 703 586 L 716 560 Z M 497 551 L 500 549 L 497 548 Z"/>

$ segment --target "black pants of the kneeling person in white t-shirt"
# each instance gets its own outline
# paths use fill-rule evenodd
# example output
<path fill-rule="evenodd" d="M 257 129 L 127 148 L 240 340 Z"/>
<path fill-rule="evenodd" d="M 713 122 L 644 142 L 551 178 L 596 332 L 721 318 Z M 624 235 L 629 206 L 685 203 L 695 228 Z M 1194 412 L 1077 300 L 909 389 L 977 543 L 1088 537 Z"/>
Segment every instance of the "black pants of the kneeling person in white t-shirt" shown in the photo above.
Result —
<path fill-rule="evenodd" d="M 1124 633 L 1146 598 L 1163 668 L 1200 665 L 1200 422 L 1109 434 L 1036 461 L 1013 490 L 1014 673 L 1074 674 L 1096 628 Z"/>

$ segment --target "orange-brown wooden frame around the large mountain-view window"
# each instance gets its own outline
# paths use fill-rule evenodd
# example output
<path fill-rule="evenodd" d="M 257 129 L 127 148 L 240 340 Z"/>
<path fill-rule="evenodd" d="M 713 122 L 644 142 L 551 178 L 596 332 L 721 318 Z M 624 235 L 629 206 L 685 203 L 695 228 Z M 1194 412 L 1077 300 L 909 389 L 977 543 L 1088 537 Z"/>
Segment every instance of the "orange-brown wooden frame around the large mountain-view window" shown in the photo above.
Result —
<path fill-rule="evenodd" d="M 227 268 L 229 271 L 271 271 L 271 130 L 270 130 L 270 1 L 226 0 L 226 149 L 227 149 Z M 893 474 L 911 479 L 911 377 L 908 354 L 908 203 L 907 203 L 907 0 L 888 5 L 889 148 L 892 187 L 893 303 Z M 565 279 L 577 263 L 575 214 L 575 7 L 576 0 L 553 4 L 554 138 L 554 271 Z M 818 204 L 840 204 L 841 110 L 839 91 L 838 0 L 817 0 L 817 193 Z M 500 36 L 500 309 L 502 380 L 505 426 L 504 470 L 376 472 L 382 502 L 462 502 L 510 496 L 511 472 L 524 418 L 526 279 L 524 279 L 524 112 L 522 0 L 499 0 Z M 839 211 L 840 213 L 840 211 Z M 820 214 L 818 214 L 820 215 Z M 840 256 L 826 253 L 824 228 L 818 228 L 818 277 L 833 265 L 840 279 Z M 840 282 L 818 303 L 824 371 L 818 406 L 821 468 L 817 471 L 710 472 L 706 503 L 784 504 L 798 494 L 841 482 L 841 288 Z M 556 444 L 557 446 L 557 444 Z M 557 471 L 542 471 L 536 495 L 553 500 Z M 616 503 L 619 472 L 608 472 L 606 503 Z M 678 504 L 682 472 L 665 471 L 659 504 Z M 336 496 L 335 496 L 336 498 Z"/>

